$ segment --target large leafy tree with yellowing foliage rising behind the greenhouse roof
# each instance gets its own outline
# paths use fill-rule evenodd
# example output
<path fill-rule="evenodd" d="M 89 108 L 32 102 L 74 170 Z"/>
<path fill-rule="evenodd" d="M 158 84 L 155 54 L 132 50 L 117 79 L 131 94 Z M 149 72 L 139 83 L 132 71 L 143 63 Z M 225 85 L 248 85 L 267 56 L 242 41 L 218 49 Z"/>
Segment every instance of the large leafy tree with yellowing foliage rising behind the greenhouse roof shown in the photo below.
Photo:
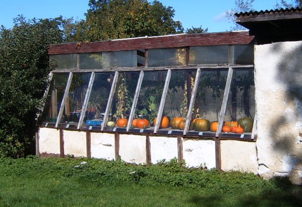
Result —
<path fill-rule="evenodd" d="M 175 10 L 159 1 L 90 0 L 86 15 L 86 41 L 183 33 L 174 21 Z"/>

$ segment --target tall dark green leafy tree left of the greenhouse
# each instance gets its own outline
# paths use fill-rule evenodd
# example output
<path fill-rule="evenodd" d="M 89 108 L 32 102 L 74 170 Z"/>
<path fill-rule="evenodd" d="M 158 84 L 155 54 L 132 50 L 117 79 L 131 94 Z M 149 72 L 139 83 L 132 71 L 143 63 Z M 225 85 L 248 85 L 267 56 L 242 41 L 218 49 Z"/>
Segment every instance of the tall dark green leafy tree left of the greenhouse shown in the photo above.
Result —
<path fill-rule="evenodd" d="M 0 157 L 34 153 L 37 114 L 50 71 L 49 44 L 62 42 L 59 19 L 14 19 L 0 29 Z"/>

